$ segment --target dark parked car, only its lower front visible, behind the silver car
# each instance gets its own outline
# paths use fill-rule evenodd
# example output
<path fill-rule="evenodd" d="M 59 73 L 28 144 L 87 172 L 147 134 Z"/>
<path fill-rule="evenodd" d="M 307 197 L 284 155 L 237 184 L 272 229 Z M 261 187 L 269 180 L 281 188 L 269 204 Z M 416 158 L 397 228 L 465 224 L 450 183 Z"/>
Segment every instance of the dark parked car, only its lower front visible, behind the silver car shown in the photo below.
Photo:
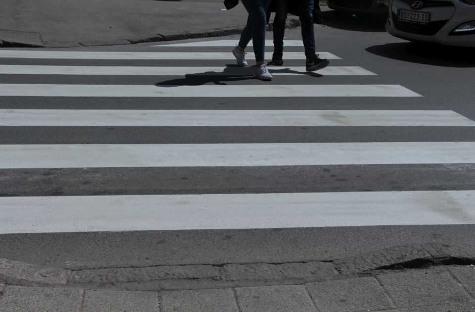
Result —
<path fill-rule="evenodd" d="M 388 0 L 328 0 L 328 7 L 343 14 L 387 14 Z"/>

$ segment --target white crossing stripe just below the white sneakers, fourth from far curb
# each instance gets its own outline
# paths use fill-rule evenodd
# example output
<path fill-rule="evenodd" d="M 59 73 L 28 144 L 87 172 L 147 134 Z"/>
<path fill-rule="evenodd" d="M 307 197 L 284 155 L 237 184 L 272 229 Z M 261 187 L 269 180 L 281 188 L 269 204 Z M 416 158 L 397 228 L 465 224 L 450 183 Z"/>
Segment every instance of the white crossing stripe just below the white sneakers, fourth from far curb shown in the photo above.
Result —
<path fill-rule="evenodd" d="M 420 97 L 400 85 L 51 85 L 0 84 L 0 96 L 10 97 Z"/>

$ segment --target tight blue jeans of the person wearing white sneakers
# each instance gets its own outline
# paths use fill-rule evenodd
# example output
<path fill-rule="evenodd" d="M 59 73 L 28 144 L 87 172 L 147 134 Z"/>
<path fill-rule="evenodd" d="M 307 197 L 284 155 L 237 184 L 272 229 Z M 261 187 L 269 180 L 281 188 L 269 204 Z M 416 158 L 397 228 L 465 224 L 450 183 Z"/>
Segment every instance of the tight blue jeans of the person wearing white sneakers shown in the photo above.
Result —
<path fill-rule="evenodd" d="M 266 11 L 270 0 L 241 0 L 249 13 L 246 27 L 242 30 L 239 47 L 245 48 L 252 39 L 256 62 L 265 60 L 266 49 Z"/>

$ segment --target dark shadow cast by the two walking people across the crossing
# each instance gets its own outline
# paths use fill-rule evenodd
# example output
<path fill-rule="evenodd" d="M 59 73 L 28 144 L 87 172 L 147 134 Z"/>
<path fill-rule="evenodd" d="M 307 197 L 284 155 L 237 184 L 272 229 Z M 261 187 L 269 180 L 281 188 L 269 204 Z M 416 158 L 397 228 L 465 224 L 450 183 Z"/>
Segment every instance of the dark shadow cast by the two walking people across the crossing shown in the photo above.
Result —
<path fill-rule="evenodd" d="M 315 72 L 299 72 L 285 66 L 272 66 L 269 63 L 271 74 L 298 74 L 313 77 L 323 77 Z M 222 72 L 202 72 L 186 74 L 185 78 L 171 79 L 156 83 L 157 87 L 177 87 L 177 86 L 201 86 L 205 84 L 228 85 L 229 82 L 256 79 L 254 77 L 256 66 L 241 67 L 238 65 L 227 64 Z"/>

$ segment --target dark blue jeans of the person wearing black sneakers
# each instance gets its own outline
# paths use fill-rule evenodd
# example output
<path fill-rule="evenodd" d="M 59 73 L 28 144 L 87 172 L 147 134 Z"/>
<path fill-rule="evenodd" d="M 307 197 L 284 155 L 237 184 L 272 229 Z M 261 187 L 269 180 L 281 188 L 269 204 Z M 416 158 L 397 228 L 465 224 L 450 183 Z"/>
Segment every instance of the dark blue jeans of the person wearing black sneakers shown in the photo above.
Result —
<path fill-rule="evenodd" d="M 276 1 L 276 16 L 274 17 L 274 51 L 284 51 L 285 20 L 287 19 L 289 0 Z M 315 31 L 313 28 L 313 9 L 315 0 L 296 0 L 302 31 L 302 41 L 305 56 L 315 54 Z"/>

